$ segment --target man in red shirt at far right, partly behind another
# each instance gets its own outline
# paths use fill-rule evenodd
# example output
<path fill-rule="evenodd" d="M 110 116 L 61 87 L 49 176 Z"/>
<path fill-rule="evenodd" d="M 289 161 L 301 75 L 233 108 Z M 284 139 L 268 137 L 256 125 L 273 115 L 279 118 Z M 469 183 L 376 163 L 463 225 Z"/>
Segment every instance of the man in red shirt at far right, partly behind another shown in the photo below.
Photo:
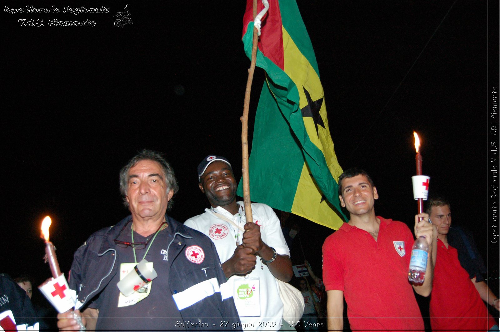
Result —
<path fill-rule="evenodd" d="M 460 265 L 457 249 L 448 245 L 451 211 L 447 200 L 439 197 L 427 201 L 427 213 L 437 226 L 437 257 L 430 295 L 430 326 L 432 330 L 498 331 L 498 325 L 482 301 L 499 309 L 498 297 L 484 281 L 472 279 Z"/>

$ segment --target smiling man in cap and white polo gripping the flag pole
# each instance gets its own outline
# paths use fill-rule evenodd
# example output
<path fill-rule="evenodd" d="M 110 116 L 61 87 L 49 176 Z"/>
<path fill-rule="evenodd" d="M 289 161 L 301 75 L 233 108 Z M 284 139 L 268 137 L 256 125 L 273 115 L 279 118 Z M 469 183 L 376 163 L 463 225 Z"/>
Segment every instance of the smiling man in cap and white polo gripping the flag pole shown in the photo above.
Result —
<path fill-rule="evenodd" d="M 184 225 L 215 244 L 242 328 L 294 330 L 282 320 L 276 285 L 276 278 L 288 282 L 292 276 L 290 253 L 276 214 L 269 206 L 255 203 L 253 223 L 245 222 L 243 202 L 236 202 L 236 180 L 224 157 L 206 156 L 198 165 L 198 180 L 211 207 Z"/>

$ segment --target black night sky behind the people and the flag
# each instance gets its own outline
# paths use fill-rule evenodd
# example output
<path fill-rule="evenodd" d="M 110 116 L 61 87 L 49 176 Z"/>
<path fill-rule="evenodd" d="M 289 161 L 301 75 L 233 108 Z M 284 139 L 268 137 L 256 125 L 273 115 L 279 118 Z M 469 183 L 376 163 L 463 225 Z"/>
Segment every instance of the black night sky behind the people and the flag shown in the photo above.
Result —
<path fill-rule="evenodd" d="M 2 10 L 34 4 L 1 2 Z M 114 26 L 112 16 L 127 3 L 133 23 Z M 498 139 L 490 133 L 490 122 L 498 121 L 490 119 L 491 89 L 498 86 L 498 2 L 297 3 L 340 166 L 370 173 L 380 195 L 377 215 L 411 225 L 417 131 L 430 194 L 451 200 L 453 223 L 473 231 L 498 284 L 488 155 Z M 2 12 L 0 21 L 0 272 L 27 272 L 39 283 L 50 276 L 42 262 L 42 218 L 52 217 L 51 241 L 67 273 L 73 252 L 91 233 L 128 214 L 118 172 L 137 150 L 166 154 L 180 186 L 170 214 L 181 222 L 208 207 L 195 174 L 205 155 L 228 157 L 239 179 L 239 117 L 250 63 L 241 42 L 242 0 L 36 1 L 52 5 L 61 11 Z M 62 12 L 66 5 L 109 12 L 74 15 Z M 31 18 L 45 25 L 18 26 L 18 19 Z M 89 18 L 95 26 L 47 26 L 51 18 Z M 262 82 L 257 69 L 251 114 Z M 252 119 L 249 129 L 251 141 Z M 302 221 L 302 248 L 318 274 L 320 245 L 331 232 Z M 296 243 L 294 264 L 303 259 Z"/>

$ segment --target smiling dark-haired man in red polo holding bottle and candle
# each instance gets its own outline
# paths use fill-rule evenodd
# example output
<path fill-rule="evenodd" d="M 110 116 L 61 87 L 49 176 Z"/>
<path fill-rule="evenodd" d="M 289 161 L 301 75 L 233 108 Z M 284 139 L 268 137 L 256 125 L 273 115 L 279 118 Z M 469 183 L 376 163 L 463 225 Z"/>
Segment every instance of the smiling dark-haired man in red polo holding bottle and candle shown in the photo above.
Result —
<path fill-rule="evenodd" d="M 340 175 L 338 184 L 340 204 L 350 219 L 323 244 L 328 330 L 342 330 L 343 298 L 352 331 L 424 330 L 411 286 L 422 296 L 430 294 L 431 255 L 424 283 L 411 285 L 408 266 L 414 239 L 408 227 L 375 216 L 378 194 L 366 172 L 351 168 Z M 430 249 L 436 237 L 433 230 L 427 214 L 415 216 L 415 235 L 425 236 Z"/>

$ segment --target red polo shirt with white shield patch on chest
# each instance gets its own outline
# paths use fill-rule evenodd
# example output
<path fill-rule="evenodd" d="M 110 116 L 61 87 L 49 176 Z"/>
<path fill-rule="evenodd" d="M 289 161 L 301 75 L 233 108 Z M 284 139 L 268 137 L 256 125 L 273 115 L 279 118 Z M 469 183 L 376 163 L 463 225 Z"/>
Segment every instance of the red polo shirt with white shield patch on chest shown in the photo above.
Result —
<path fill-rule="evenodd" d="M 343 291 L 352 331 L 423 330 L 408 282 L 413 235 L 408 227 L 380 220 L 377 241 L 366 231 L 343 224 L 323 244 L 323 283 Z"/>

